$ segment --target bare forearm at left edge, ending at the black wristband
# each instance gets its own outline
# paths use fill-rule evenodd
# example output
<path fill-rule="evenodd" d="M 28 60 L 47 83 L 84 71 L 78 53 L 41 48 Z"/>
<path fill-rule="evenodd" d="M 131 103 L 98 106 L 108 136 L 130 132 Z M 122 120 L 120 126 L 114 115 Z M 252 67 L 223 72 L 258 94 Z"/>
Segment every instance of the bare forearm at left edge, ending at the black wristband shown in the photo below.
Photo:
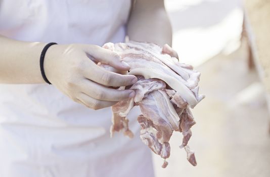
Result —
<path fill-rule="evenodd" d="M 44 83 L 39 57 L 45 45 L 0 35 L 0 83 Z"/>

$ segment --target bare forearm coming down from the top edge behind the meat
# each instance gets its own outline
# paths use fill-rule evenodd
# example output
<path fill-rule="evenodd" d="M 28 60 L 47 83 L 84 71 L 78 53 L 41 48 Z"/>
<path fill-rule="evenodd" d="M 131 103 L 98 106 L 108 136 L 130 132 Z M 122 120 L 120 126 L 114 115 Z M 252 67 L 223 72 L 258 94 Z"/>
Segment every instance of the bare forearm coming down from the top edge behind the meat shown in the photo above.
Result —
<path fill-rule="evenodd" d="M 163 1 L 137 0 L 127 24 L 129 40 L 171 46 L 172 30 Z"/>

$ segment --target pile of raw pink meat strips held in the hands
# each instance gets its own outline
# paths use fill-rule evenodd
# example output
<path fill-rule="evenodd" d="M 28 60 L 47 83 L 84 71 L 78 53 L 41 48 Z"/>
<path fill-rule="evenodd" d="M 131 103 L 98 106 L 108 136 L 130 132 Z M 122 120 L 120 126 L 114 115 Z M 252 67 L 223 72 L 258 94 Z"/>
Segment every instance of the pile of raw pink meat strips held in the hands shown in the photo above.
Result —
<path fill-rule="evenodd" d="M 103 48 L 119 54 L 130 66 L 128 74 L 138 77 L 137 83 L 119 88 L 132 89 L 136 95 L 112 107 L 111 135 L 122 130 L 124 135 L 133 137 L 126 116 L 133 106 L 139 105 L 142 112 L 138 116 L 140 137 L 154 153 L 164 158 L 162 167 L 168 164 L 166 159 L 170 156 L 169 140 L 173 131 L 182 132 L 180 147 L 186 150 L 189 162 L 195 166 L 194 151 L 187 144 L 192 135 L 190 128 L 195 124 L 190 108 L 204 98 L 198 94 L 200 73 L 191 65 L 163 54 L 162 48 L 154 43 L 106 43 Z"/>

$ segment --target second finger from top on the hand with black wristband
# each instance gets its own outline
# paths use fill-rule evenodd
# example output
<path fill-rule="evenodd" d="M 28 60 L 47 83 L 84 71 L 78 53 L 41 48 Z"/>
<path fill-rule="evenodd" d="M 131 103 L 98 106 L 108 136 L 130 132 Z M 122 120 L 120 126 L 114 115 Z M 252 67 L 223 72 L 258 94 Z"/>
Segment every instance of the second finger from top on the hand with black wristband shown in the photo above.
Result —
<path fill-rule="evenodd" d="M 87 63 L 87 66 L 83 70 L 83 76 L 106 86 L 127 86 L 137 82 L 137 77 L 134 75 L 122 75 L 110 72 L 93 62 Z"/>

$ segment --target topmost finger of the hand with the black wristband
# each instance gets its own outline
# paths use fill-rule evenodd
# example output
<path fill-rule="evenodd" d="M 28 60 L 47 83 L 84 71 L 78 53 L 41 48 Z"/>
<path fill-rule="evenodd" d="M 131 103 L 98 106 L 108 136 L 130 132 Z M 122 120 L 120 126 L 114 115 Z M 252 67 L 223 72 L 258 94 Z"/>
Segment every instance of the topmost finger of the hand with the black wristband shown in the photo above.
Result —
<path fill-rule="evenodd" d="M 95 58 L 96 62 L 101 62 L 108 64 L 115 69 L 127 71 L 130 69 L 130 66 L 121 60 L 121 57 L 108 49 L 101 48 L 97 46 L 95 51 L 88 51 L 88 54 Z"/>

